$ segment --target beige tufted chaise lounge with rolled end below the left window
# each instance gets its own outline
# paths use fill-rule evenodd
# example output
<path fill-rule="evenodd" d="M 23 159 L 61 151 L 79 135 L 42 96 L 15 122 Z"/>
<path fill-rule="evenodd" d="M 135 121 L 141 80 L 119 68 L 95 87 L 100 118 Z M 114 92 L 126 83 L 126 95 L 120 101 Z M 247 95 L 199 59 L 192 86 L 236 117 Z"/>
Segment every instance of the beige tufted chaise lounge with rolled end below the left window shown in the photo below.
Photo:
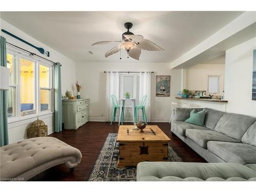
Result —
<path fill-rule="evenodd" d="M 38 173 L 61 163 L 73 170 L 81 152 L 54 137 L 36 137 L 1 148 L 0 179 L 29 180 Z"/>

